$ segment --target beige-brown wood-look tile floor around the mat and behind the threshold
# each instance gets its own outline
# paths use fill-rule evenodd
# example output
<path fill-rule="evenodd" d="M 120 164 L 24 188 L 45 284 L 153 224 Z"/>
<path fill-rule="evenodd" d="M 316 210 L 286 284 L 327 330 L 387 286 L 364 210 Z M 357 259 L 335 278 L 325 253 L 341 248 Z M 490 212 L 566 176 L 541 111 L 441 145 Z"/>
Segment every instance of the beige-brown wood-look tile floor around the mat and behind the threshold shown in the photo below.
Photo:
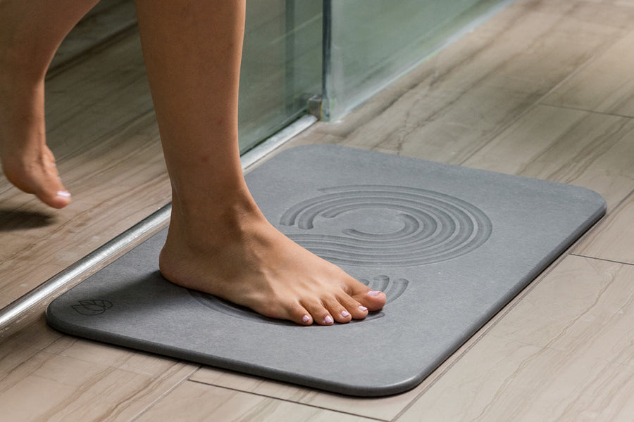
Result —
<path fill-rule="evenodd" d="M 633 19 L 634 1 L 518 0 L 285 146 L 340 143 L 606 198 L 607 217 L 414 390 L 344 397 L 101 345 L 48 328 L 42 305 L 1 334 L 0 420 L 633 421 Z M 1 305 L 167 202 L 135 43 L 130 32 L 49 81 L 49 139 L 75 202 L 50 212 L 0 181 Z"/>

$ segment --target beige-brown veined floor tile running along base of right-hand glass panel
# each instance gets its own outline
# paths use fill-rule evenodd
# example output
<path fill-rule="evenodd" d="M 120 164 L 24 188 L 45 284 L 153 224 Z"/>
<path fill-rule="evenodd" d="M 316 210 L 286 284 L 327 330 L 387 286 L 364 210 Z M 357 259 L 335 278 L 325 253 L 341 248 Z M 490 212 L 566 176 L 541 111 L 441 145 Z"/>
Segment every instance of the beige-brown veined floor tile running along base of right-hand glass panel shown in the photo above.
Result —
<path fill-rule="evenodd" d="M 511 6 L 423 63 L 415 86 L 376 117 L 331 133 L 349 146 L 461 163 L 622 31 Z"/>

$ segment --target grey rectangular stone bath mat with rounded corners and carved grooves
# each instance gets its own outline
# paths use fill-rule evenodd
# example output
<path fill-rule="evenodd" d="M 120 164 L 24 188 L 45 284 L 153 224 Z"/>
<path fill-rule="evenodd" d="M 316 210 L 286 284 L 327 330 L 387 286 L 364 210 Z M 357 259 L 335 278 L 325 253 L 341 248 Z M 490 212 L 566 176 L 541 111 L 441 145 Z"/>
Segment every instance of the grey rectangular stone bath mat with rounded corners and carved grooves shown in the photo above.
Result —
<path fill-rule="evenodd" d="M 213 181 L 210 181 L 213 183 Z M 60 331 L 347 395 L 414 388 L 605 212 L 585 188 L 340 146 L 247 174 L 264 214 L 387 295 L 365 321 L 295 326 L 161 277 L 166 231 L 57 298 Z"/>

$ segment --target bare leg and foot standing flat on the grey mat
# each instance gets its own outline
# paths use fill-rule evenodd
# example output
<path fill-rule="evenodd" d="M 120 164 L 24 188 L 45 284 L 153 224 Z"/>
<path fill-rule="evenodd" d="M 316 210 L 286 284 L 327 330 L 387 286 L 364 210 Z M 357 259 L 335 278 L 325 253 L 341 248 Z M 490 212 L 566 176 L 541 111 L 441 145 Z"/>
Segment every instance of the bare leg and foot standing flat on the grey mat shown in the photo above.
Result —
<path fill-rule="evenodd" d="M 244 0 L 137 0 L 137 16 L 173 192 L 163 275 L 303 325 L 363 319 L 383 307 L 383 293 L 271 226 L 244 183 Z"/>

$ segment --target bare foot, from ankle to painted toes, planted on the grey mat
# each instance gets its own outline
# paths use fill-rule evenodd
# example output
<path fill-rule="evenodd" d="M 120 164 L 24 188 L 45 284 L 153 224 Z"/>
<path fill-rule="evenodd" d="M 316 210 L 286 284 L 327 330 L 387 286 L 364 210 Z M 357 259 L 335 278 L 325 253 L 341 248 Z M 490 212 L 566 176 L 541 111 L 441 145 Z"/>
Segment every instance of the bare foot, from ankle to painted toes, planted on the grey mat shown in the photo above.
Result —
<path fill-rule="evenodd" d="M 259 210 L 214 226 L 183 224 L 178 214 L 173 210 L 159 260 L 173 283 L 302 325 L 363 319 L 385 305 L 384 293 L 297 245 Z"/>

